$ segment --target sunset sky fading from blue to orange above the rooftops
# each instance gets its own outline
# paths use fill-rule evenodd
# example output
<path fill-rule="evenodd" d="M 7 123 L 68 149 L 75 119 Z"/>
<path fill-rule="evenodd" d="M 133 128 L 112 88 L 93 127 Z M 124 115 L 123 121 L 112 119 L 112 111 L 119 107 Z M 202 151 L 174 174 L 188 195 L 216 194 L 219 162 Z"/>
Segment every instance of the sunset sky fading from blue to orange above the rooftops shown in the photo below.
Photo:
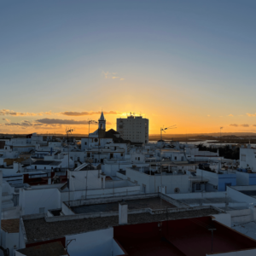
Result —
<path fill-rule="evenodd" d="M 0 3 L 0 133 L 256 132 L 256 1 Z M 90 131 L 96 130 L 91 126 Z"/>

